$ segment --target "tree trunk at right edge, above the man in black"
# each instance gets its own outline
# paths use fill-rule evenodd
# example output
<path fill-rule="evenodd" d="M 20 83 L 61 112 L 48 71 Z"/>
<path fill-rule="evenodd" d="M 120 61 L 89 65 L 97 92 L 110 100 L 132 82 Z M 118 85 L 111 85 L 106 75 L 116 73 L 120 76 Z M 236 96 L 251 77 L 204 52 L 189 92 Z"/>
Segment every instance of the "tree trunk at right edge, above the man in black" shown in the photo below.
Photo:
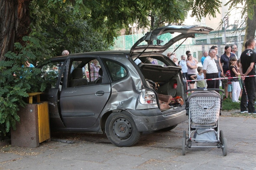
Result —
<path fill-rule="evenodd" d="M 254 15 L 253 15 L 253 19 L 249 19 L 247 16 L 246 19 L 246 28 L 245 28 L 245 39 L 244 39 L 244 43 L 250 39 L 250 38 L 255 38 L 255 31 L 256 31 L 256 5 L 254 5 Z M 244 46 L 243 46 L 244 48 Z"/>

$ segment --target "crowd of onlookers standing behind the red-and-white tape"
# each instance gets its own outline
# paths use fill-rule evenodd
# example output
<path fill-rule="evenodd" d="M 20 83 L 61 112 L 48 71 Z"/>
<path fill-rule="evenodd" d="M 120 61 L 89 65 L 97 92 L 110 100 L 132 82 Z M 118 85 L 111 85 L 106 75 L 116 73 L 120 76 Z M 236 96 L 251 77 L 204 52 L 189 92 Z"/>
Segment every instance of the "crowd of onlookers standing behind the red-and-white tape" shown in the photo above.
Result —
<path fill-rule="evenodd" d="M 229 95 L 232 102 L 240 103 L 241 113 L 256 114 L 254 107 L 256 103 L 256 78 L 254 77 L 256 75 L 256 53 L 253 51 L 254 48 L 255 40 L 249 39 L 245 43 L 245 51 L 237 59 L 235 53 L 238 49 L 235 44 L 225 46 L 224 54 L 221 57 L 217 54 L 218 47 L 212 46 L 209 51 L 203 51 L 201 58 L 203 67 L 197 66 L 198 61 L 191 55 L 190 51 L 186 51 L 187 58 L 185 55 L 181 55 L 181 60 L 178 63 L 175 60 L 176 57 L 172 57 L 173 54 L 169 58 L 181 67 L 184 79 L 197 80 L 198 89 L 219 88 L 221 81 L 222 88 L 225 91 L 224 100 Z M 221 77 L 226 77 L 227 79 L 210 80 Z M 189 81 L 189 88 L 194 89 L 194 84 L 195 81 Z M 241 101 L 239 101 L 239 97 L 241 97 Z"/>

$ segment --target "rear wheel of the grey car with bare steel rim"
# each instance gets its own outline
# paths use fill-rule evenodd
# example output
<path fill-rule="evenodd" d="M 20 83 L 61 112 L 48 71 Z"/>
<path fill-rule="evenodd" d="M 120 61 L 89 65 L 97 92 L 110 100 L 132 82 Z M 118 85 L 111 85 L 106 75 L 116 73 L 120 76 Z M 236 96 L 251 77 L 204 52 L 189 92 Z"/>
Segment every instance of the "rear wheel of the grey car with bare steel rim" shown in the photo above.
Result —
<path fill-rule="evenodd" d="M 118 147 L 135 145 L 142 132 L 137 130 L 133 118 L 126 112 L 114 112 L 108 116 L 105 130 L 108 139 Z"/>

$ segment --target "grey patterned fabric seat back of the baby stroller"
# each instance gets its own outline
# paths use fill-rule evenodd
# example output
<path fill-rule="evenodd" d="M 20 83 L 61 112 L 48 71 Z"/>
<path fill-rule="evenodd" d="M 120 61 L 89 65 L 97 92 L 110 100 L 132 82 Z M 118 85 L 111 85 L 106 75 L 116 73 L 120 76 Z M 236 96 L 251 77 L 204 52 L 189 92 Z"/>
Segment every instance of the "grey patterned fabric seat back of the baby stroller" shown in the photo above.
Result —
<path fill-rule="evenodd" d="M 216 91 L 197 91 L 188 97 L 186 104 L 193 124 L 211 125 L 219 118 L 221 96 Z"/>

